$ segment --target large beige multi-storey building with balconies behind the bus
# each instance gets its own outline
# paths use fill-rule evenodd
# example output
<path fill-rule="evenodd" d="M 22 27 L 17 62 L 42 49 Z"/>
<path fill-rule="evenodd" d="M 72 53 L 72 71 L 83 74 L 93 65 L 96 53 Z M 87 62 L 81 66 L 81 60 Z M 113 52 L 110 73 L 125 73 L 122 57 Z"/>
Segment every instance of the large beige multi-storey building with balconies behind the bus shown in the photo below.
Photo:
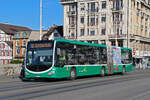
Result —
<path fill-rule="evenodd" d="M 149 0 L 61 0 L 64 37 L 131 47 L 150 56 Z"/>

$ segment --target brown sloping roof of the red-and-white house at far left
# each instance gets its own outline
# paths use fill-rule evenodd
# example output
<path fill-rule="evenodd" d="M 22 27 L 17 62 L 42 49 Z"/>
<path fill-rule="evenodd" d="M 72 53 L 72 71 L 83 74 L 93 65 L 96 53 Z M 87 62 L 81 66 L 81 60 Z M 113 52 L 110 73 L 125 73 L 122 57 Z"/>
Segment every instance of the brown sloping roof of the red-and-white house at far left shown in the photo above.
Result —
<path fill-rule="evenodd" d="M 1 23 L 0 23 L 0 29 L 7 34 L 12 34 L 12 35 L 14 35 L 18 31 L 31 31 L 31 29 L 27 27 L 10 25 L 10 24 L 1 24 Z"/>

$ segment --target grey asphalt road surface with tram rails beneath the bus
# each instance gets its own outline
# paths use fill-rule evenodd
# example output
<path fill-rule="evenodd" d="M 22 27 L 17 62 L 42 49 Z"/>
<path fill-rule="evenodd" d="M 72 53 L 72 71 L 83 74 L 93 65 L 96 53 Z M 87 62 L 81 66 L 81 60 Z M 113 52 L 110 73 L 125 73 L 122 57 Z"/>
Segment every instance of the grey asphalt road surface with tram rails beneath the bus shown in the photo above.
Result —
<path fill-rule="evenodd" d="M 150 100 L 150 70 L 74 81 L 0 78 L 0 100 Z"/>

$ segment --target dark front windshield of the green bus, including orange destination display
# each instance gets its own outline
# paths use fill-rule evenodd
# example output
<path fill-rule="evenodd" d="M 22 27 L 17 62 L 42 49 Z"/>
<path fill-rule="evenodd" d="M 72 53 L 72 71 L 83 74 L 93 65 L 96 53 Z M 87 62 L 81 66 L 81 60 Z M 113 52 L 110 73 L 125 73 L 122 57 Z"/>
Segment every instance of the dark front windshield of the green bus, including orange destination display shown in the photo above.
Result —
<path fill-rule="evenodd" d="M 53 43 L 35 42 L 29 43 L 26 55 L 26 67 L 31 71 L 45 71 L 52 66 Z"/>

